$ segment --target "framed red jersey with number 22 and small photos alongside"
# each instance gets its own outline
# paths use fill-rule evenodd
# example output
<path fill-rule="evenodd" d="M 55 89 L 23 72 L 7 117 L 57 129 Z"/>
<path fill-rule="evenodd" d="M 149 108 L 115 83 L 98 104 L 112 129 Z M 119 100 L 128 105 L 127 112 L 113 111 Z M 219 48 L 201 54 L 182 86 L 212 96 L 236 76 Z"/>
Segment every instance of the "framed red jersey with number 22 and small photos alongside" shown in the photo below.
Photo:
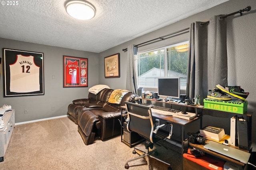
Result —
<path fill-rule="evenodd" d="M 88 87 L 88 59 L 63 56 L 63 87 Z"/>

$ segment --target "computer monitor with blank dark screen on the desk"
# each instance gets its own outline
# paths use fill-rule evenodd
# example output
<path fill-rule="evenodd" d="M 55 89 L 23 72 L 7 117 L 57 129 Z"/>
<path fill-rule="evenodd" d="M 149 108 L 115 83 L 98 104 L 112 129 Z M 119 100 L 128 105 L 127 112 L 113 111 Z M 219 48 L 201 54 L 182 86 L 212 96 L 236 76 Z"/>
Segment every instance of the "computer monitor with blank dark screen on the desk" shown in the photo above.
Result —
<path fill-rule="evenodd" d="M 158 78 L 158 95 L 180 98 L 180 78 Z"/>

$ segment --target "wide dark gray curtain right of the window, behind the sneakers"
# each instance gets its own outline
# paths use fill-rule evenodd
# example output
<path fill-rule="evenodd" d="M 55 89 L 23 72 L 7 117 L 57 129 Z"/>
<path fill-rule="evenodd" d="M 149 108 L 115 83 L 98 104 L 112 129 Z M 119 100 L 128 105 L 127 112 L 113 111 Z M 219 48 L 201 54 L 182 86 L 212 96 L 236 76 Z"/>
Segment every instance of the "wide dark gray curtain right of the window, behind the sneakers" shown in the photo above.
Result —
<path fill-rule="evenodd" d="M 212 17 L 207 24 L 190 25 L 186 94 L 190 99 L 200 95 L 201 103 L 208 90 L 217 84 L 228 85 L 226 18 L 220 16 Z"/>

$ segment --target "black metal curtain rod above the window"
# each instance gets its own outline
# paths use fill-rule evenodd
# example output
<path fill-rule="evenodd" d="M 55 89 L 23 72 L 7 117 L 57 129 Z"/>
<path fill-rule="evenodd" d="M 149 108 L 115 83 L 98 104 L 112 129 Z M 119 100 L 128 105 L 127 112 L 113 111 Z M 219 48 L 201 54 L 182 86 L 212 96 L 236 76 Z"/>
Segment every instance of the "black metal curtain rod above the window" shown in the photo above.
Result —
<path fill-rule="evenodd" d="M 228 17 L 228 16 L 232 16 L 232 15 L 238 14 L 238 13 L 240 13 L 240 16 L 242 16 L 242 12 L 248 12 L 248 11 L 250 11 L 250 10 L 251 10 L 251 6 L 247 6 L 246 8 L 244 8 L 244 9 L 242 9 L 242 10 L 239 10 L 239 11 L 237 11 L 237 12 L 233 12 L 233 13 L 231 13 L 231 14 L 227 14 L 227 15 L 224 15 L 224 16 L 220 16 L 220 19 L 221 19 L 221 18 L 226 18 L 226 17 Z M 210 21 L 202 22 L 202 23 L 200 23 L 200 25 L 204 25 L 204 24 L 209 23 L 209 22 L 210 22 Z M 158 41 L 164 40 L 164 37 L 168 37 L 168 36 L 170 36 L 170 35 L 173 35 L 173 34 L 176 34 L 176 33 L 180 33 L 180 32 L 182 32 L 182 31 L 186 31 L 186 30 L 188 30 L 188 29 L 189 29 L 189 28 L 185 28 L 185 29 L 182 29 L 182 30 L 180 30 L 180 31 L 176 31 L 176 32 L 174 32 L 174 33 L 170 33 L 170 34 L 168 34 L 168 35 L 164 35 L 164 36 L 162 36 L 162 37 L 158 37 L 158 38 L 152 39 L 152 40 L 150 40 L 150 41 L 146 41 L 146 42 L 144 42 L 144 43 L 140 43 L 140 44 L 138 44 L 138 45 L 134 45 L 134 47 L 138 47 L 139 45 L 146 44 L 146 43 L 148 43 L 148 44 L 156 43 L 156 42 L 158 42 Z M 167 38 L 166 38 L 166 39 L 167 39 Z M 156 40 L 157 40 L 157 41 L 156 41 Z M 151 42 L 151 41 L 154 41 L 154 42 Z M 151 43 L 149 43 L 149 42 L 151 42 Z M 146 44 L 146 45 L 148 45 L 148 44 Z M 143 46 L 144 46 L 144 45 L 143 45 Z M 140 47 L 142 47 L 142 46 L 140 46 Z M 122 49 L 122 51 L 126 52 L 126 51 L 127 51 L 127 48 L 126 48 L 126 49 Z"/>

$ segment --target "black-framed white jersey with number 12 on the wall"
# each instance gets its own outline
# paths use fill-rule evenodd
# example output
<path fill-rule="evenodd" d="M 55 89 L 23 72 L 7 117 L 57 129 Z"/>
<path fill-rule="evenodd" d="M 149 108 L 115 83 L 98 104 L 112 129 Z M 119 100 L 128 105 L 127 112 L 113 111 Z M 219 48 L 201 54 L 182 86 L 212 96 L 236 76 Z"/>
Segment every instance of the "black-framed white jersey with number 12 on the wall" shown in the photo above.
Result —
<path fill-rule="evenodd" d="M 3 49 L 4 97 L 44 95 L 44 53 Z"/>

